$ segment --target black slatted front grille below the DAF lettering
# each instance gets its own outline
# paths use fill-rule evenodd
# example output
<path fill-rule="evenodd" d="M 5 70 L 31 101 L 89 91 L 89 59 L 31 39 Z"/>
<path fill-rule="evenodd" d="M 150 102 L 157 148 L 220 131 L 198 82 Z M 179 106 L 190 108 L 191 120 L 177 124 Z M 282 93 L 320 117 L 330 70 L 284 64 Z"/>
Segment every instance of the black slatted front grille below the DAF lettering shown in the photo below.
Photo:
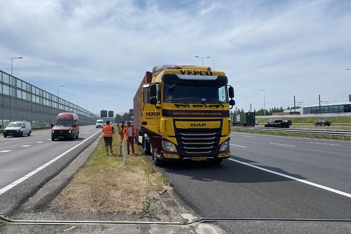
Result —
<path fill-rule="evenodd" d="M 177 142 L 182 153 L 212 154 L 218 149 L 220 129 L 177 129 Z"/>

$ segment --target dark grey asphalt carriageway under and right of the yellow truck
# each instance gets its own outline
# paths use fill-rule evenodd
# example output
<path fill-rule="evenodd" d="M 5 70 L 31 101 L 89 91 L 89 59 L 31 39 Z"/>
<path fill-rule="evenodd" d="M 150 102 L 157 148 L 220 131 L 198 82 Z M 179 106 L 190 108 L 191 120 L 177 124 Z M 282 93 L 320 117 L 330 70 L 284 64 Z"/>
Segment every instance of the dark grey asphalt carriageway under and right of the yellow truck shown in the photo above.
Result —
<path fill-rule="evenodd" d="M 201 216 L 351 218 L 350 141 L 233 132 L 231 144 L 220 165 L 162 169 Z"/>

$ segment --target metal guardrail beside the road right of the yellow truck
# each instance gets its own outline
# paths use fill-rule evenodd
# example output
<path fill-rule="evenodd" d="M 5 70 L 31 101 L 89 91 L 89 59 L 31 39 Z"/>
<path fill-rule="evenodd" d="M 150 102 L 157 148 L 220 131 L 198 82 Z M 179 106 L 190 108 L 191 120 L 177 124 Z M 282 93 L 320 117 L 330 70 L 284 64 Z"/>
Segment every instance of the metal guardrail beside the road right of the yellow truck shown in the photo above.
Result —
<path fill-rule="evenodd" d="M 281 129 L 281 128 L 257 128 L 257 127 L 236 127 L 236 126 L 232 126 L 232 129 L 241 129 L 241 130 L 248 130 L 251 132 L 254 131 L 261 131 L 261 133 L 263 132 L 279 132 L 282 133 L 282 135 L 284 135 L 284 133 L 296 133 L 297 135 L 299 134 L 312 134 L 313 138 L 315 138 L 315 136 L 321 136 L 318 138 L 324 138 L 325 135 L 328 136 L 332 136 L 332 139 L 334 139 L 334 136 L 339 136 L 341 138 L 343 138 L 344 140 L 346 140 L 346 137 L 351 138 L 351 131 L 332 131 L 332 130 L 297 130 L 297 129 Z"/>

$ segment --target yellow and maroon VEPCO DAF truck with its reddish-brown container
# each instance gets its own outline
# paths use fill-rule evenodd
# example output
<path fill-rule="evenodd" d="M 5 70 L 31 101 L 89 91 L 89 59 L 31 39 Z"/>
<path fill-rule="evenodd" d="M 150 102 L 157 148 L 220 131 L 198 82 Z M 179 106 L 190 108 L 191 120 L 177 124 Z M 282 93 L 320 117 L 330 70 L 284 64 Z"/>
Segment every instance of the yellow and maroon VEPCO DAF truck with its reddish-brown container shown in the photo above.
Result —
<path fill-rule="evenodd" d="M 175 160 L 221 163 L 230 156 L 233 98 L 224 72 L 156 66 L 146 72 L 133 99 L 135 142 L 157 166 Z"/>

